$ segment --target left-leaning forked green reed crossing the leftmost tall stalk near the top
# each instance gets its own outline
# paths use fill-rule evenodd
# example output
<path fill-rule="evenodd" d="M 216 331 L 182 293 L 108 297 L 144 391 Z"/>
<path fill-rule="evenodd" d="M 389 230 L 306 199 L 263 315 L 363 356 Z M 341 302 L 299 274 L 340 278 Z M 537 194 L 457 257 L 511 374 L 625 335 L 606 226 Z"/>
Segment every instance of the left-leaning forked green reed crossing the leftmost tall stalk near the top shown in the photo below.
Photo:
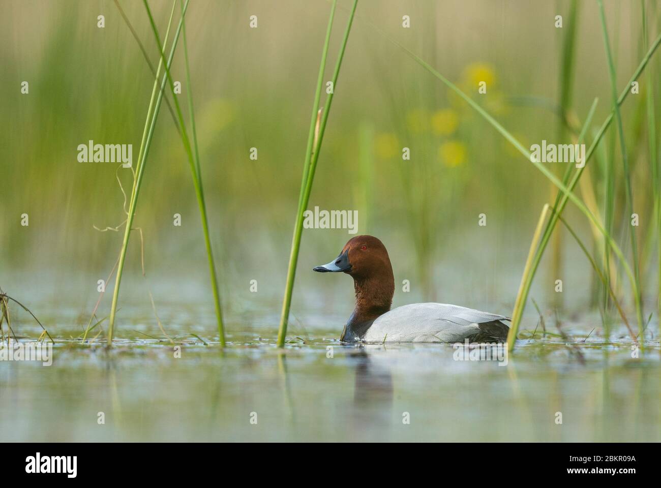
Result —
<path fill-rule="evenodd" d="M 161 39 L 159 37 L 159 32 L 156 27 L 156 24 L 153 19 L 153 15 L 151 15 L 151 10 L 149 9 L 149 3 L 147 3 L 147 0 L 143 0 L 143 4 L 145 5 L 145 9 L 147 11 L 147 16 L 149 17 L 149 23 L 151 24 L 151 29 L 153 31 L 156 44 L 159 48 L 159 52 L 161 53 L 161 61 L 165 61 L 165 54 L 163 53 L 163 49 L 161 48 Z M 182 20 L 184 19 L 184 14 L 185 11 L 182 7 Z M 200 154 L 198 151 L 198 145 L 197 145 L 197 136 L 196 136 L 196 131 L 195 131 L 195 122 L 194 122 L 194 111 L 193 111 L 193 105 L 192 105 L 192 93 L 191 93 L 191 87 L 190 87 L 190 72 L 188 69 L 188 55 L 186 54 L 186 28 L 185 28 L 185 22 L 184 22 L 184 58 L 186 58 L 186 83 L 187 83 L 187 91 L 188 91 L 188 104 L 189 104 L 189 112 L 190 112 L 190 117 L 192 119 L 191 125 L 192 125 L 192 130 L 193 130 L 193 137 L 194 137 L 194 144 L 195 144 L 195 153 L 193 153 L 192 146 L 190 144 L 190 139 L 188 138 L 188 131 L 186 130 L 186 124 L 184 124 L 184 116 L 181 112 L 181 107 L 179 106 L 179 102 L 176 98 L 175 95 L 175 83 L 173 81 L 172 75 L 170 73 L 170 69 L 168 67 L 168 63 L 165 63 L 165 75 L 169 81 L 170 84 L 170 89 L 173 94 L 173 99 L 175 101 L 175 110 L 176 110 L 176 116 L 179 121 L 179 126 L 181 127 L 181 138 L 182 142 L 184 143 L 184 149 L 186 151 L 186 155 L 188 156 L 188 164 L 190 165 L 190 172 L 192 173 L 193 177 L 193 184 L 195 187 L 195 194 L 198 200 L 198 207 L 200 208 L 200 219 L 202 220 L 202 230 L 204 231 L 204 243 L 206 245 L 206 252 L 207 252 L 207 257 L 209 261 L 209 272 L 210 272 L 210 277 L 211 277 L 211 282 L 212 282 L 212 290 L 214 292 L 214 302 L 215 302 L 215 315 L 216 315 L 216 320 L 218 324 L 218 335 L 219 335 L 219 340 L 220 340 L 220 345 L 221 347 L 225 347 L 225 331 L 223 328 L 223 318 L 222 318 L 222 309 L 220 305 L 220 294 L 218 292 L 218 280 L 217 276 L 215 273 L 215 264 L 214 264 L 214 254 L 212 251 L 212 246 L 211 246 L 211 239 L 209 236 L 209 221 L 207 217 L 207 211 L 206 211 L 206 203 L 204 202 L 204 189 L 202 187 L 202 173 L 200 170 Z"/>

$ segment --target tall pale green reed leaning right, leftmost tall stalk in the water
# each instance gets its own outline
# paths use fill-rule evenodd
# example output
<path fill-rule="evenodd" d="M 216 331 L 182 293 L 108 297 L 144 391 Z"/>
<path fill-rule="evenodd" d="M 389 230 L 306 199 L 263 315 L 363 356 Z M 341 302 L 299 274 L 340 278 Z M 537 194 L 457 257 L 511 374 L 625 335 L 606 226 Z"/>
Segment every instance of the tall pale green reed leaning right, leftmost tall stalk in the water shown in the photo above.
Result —
<path fill-rule="evenodd" d="M 176 0 L 173 1 L 170 20 L 168 22 L 168 29 L 165 34 L 166 38 L 170 32 L 170 27 L 172 25 L 172 20 L 175 13 L 175 6 L 176 6 Z M 186 0 L 184 11 L 187 7 L 188 7 L 188 0 Z M 173 40 L 172 48 L 170 50 L 170 55 L 167 63 L 165 63 L 166 65 L 170 65 L 175 56 L 175 48 L 179 38 L 179 32 L 181 30 L 183 20 L 184 17 L 182 17 L 179 20 L 179 24 L 177 26 L 175 33 L 175 39 Z M 147 156 L 149 155 L 149 148 L 151 147 L 151 140 L 153 138 L 154 128 L 156 126 L 156 120 L 158 118 L 159 110 L 161 108 L 161 101 L 163 101 L 163 91 L 165 89 L 165 81 L 167 80 L 167 77 L 165 76 L 163 77 L 163 81 L 161 81 L 161 88 L 159 89 L 158 77 L 161 73 L 162 65 L 163 65 L 163 60 L 161 59 L 161 61 L 159 61 L 159 67 L 156 71 L 157 77 L 154 80 L 154 86 L 151 91 L 151 100 L 149 101 L 149 109 L 147 110 L 145 128 L 143 130 L 142 141 L 140 143 L 140 150 L 138 153 L 136 177 L 134 179 L 133 189 L 131 192 L 131 202 L 129 204 L 128 218 L 126 220 L 126 228 L 124 229 L 124 240 L 122 241 L 122 251 L 120 251 L 120 262 L 118 264 L 117 274 L 115 278 L 115 288 L 112 292 L 112 305 L 110 305 L 110 321 L 108 323 L 108 333 L 107 333 L 107 341 L 106 341 L 106 346 L 108 347 L 112 346 L 112 337 L 114 333 L 114 323 L 115 323 L 115 316 L 117 310 L 117 302 L 120 292 L 120 283 L 122 282 L 122 273 L 124 271 L 124 261 L 126 260 L 126 251 L 128 249 L 128 242 L 131 235 L 131 227 L 133 224 L 134 217 L 136 215 L 137 197 L 140 191 L 140 185 L 142 183 L 142 179 L 145 171 L 145 163 L 147 161 Z M 152 108 L 153 108 L 153 113 L 152 113 Z"/>

